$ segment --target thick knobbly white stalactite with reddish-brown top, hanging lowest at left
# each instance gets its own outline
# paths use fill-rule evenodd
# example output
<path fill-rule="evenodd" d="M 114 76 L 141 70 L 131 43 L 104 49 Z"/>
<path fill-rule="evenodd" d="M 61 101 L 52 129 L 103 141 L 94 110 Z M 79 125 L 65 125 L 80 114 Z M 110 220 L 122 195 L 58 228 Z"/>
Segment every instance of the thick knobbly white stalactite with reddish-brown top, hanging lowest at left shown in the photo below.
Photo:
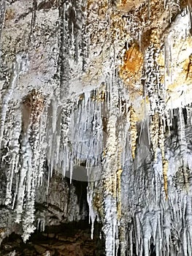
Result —
<path fill-rule="evenodd" d="M 38 91 L 31 91 L 23 101 L 23 143 L 22 165 L 19 172 L 16 222 L 22 221 L 23 240 L 28 240 L 34 232 L 34 203 L 39 173 L 39 119 L 44 108 L 44 98 Z M 45 159 L 44 159 L 45 161 Z M 25 195 L 26 194 L 26 195 Z M 25 197 L 25 203 L 24 203 Z"/>

